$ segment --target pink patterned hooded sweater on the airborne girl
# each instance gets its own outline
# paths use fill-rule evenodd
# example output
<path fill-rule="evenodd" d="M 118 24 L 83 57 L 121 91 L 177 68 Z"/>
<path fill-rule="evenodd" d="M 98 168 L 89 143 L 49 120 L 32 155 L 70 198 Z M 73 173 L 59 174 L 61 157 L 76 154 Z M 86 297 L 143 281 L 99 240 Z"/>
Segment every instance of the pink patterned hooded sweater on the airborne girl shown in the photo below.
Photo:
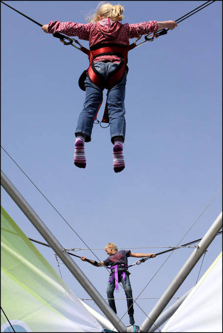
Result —
<path fill-rule="evenodd" d="M 73 23 L 50 21 L 48 24 L 48 33 L 54 34 L 60 32 L 66 36 L 77 36 L 81 40 L 89 41 L 89 47 L 95 44 L 122 44 L 128 46 L 130 38 L 137 38 L 140 35 L 147 35 L 158 30 L 156 21 L 143 23 L 124 23 L 114 22 L 111 19 L 102 20 L 98 23 Z M 94 62 L 109 60 L 111 62 L 120 62 L 117 56 L 97 57 Z"/>

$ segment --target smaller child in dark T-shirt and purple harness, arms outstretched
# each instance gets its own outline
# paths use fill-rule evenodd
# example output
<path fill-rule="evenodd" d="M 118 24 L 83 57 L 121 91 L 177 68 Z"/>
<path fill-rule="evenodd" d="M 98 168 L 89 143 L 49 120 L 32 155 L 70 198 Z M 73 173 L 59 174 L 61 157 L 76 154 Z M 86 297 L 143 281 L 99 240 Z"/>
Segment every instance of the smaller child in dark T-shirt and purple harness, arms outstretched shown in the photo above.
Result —
<path fill-rule="evenodd" d="M 115 302 L 114 302 L 114 289 L 118 289 L 118 282 L 121 282 L 126 294 L 127 298 L 127 306 L 128 306 L 128 314 L 130 319 L 130 324 L 134 325 L 134 309 L 133 309 L 133 293 L 130 284 L 128 271 L 128 257 L 142 258 L 142 257 L 156 257 L 154 253 L 132 253 L 130 250 L 119 250 L 117 249 L 114 243 L 109 243 L 105 247 L 105 251 L 109 255 L 109 257 L 98 265 L 94 265 L 96 267 L 103 266 L 111 266 L 111 274 L 110 280 L 108 282 L 107 295 L 109 299 L 109 305 L 112 310 L 117 313 Z M 81 260 L 85 261 L 86 257 L 81 257 Z"/>

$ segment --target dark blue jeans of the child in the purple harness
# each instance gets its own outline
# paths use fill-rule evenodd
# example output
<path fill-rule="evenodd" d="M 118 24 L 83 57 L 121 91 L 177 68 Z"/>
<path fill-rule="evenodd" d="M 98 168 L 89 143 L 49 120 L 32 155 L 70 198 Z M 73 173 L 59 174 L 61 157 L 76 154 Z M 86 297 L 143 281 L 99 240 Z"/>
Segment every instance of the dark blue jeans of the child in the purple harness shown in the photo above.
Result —
<path fill-rule="evenodd" d="M 129 280 L 129 276 L 126 274 L 126 281 L 124 281 L 123 277 L 121 278 L 121 283 L 123 285 L 123 288 L 125 290 L 126 298 L 127 298 L 127 306 L 128 306 L 128 313 L 129 315 L 134 314 L 133 309 L 133 293 L 132 288 Z M 115 279 L 112 281 L 112 283 L 108 282 L 108 288 L 107 288 L 107 295 L 108 298 L 114 298 L 114 288 L 115 288 Z M 119 287 L 120 288 L 120 287 Z M 109 299 L 109 305 L 112 308 L 112 310 L 117 313 L 114 299 Z"/>

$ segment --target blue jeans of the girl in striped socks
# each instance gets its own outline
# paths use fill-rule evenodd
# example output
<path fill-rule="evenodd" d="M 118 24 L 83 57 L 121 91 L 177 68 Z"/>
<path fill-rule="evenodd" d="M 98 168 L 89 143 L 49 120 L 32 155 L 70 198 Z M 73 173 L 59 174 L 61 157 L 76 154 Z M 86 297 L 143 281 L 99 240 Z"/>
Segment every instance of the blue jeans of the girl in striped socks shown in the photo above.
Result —
<path fill-rule="evenodd" d="M 113 62 L 95 62 L 94 66 L 96 70 L 104 75 L 105 80 L 108 77 L 108 74 L 111 73 L 117 66 L 118 63 Z M 108 102 L 108 113 L 109 113 L 109 124 L 110 124 L 110 133 L 111 140 L 116 136 L 123 137 L 125 140 L 125 86 L 126 86 L 126 72 L 120 83 L 115 85 L 112 89 L 107 92 L 107 102 Z M 86 142 L 91 141 L 91 131 L 94 124 L 94 117 L 97 113 L 98 107 L 103 99 L 103 91 L 98 88 L 94 83 L 89 81 L 88 75 L 85 80 L 86 95 L 85 103 L 83 110 L 81 111 L 77 127 L 75 130 L 76 133 L 86 134 Z"/>

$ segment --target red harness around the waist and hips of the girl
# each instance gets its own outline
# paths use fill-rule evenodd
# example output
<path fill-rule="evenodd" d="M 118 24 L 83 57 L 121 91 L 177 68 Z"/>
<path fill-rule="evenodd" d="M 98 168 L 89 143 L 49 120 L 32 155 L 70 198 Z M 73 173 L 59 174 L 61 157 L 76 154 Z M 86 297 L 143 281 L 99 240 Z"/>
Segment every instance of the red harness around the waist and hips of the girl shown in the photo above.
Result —
<path fill-rule="evenodd" d="M 99 87 L 101 90 L 106 89 L 112 89 L 113 86 L 117 85 L 119 82 L 121 82 L 123 75 L 125 71 L 128 72 L 127 62 L 128 62 L 128 51 L 133 49 L 136 45 L 133 43 L 129 46 L 125 45 L 119 45 L 119 44 L 98 44 L 94 45 L 90 48 L 90 50 L 86 49 L 85 47 L 81 47 L 81 51 L 86 53 L 89 57 L 89 68 L 88 71 L 85 71 L 85 74 L 89 74 L 89 80 L 90 82 L 94 83 L 97 87 Z M 120 64 L 116 67 L 115 70 L 112 71 L 111 74 L 108 75 L 108 80 L 105 81 L 103 76 L 98 73 L 98 71 L 94 67 L 93 60 L 97 57 L 104 56 L 104 55 L 110 55 L 110 56 L 118 56 L 122 60 Z M 83 75 L 82 74 L 82 75 Z M 83 80 L 83 77 L 82 77 Z M 83 83 L 80 83 L 79 85 L 82 86 L 81 89 L 85 90 L 83 88 Z M 102 101 L 101 101 L 102 104 Z M 101 106 L 100 104 L 100 106 Z M 97 110 L 96 116 L 94 120 L 97 118 L 98 111 L 100 109 L 100 106 Z M 105 111 L 102 119 L 102 123 L 109 123 L 109 115 L 108 115 L 108 103 L 106 102 Z"/>

